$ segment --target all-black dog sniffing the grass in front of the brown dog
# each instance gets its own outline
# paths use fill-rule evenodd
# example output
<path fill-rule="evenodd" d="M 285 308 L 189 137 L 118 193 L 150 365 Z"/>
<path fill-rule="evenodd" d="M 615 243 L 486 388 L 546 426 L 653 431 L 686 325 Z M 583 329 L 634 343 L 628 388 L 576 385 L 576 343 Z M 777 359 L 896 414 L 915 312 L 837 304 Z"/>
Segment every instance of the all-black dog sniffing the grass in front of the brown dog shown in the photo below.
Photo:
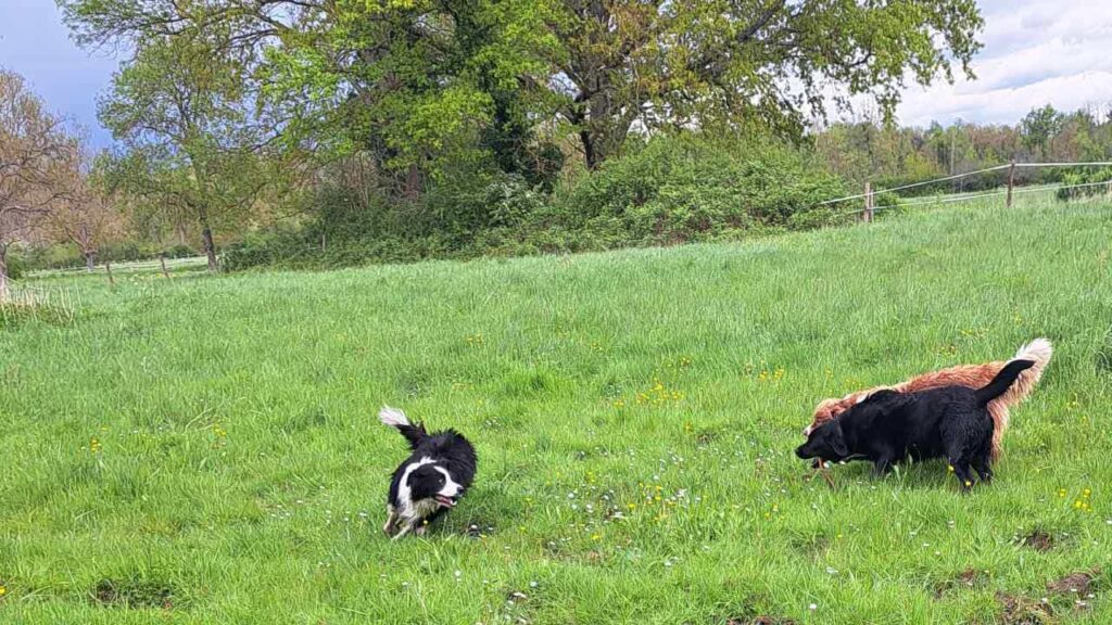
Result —
<path fill-rule="evenodd" d="M 892 463 L 944 456 L 962 483 L 973 486 L 972 466 L 992 479 L 992 417 L 986 406 L 1002 395 L 1032 360 L 1012 360 L 983 388 L 946 386 L 920 393 L 882 390 L 817 427 L 795 450 L 801 458 L 871 460 L 875 475 Z"/>

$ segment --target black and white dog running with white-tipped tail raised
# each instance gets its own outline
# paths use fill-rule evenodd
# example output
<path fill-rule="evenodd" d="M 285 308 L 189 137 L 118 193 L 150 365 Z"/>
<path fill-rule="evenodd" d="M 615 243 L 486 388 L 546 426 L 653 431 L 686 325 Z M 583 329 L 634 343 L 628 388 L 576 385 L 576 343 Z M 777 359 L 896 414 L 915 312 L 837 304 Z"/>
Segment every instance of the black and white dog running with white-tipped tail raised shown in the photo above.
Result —
<path fill-rule="evenodd" d="M 378 418 L 397 428 L 413 449 L 390 480 L 383 532 L 395 538 L 410 532 L 421 535 L 429 523 L 459 503 L 475 479 L 478 457 L 454 429 L 429 434 L 425 424 L 411 425 L 405 413 L 389 406 L 383 407 Z"/>

